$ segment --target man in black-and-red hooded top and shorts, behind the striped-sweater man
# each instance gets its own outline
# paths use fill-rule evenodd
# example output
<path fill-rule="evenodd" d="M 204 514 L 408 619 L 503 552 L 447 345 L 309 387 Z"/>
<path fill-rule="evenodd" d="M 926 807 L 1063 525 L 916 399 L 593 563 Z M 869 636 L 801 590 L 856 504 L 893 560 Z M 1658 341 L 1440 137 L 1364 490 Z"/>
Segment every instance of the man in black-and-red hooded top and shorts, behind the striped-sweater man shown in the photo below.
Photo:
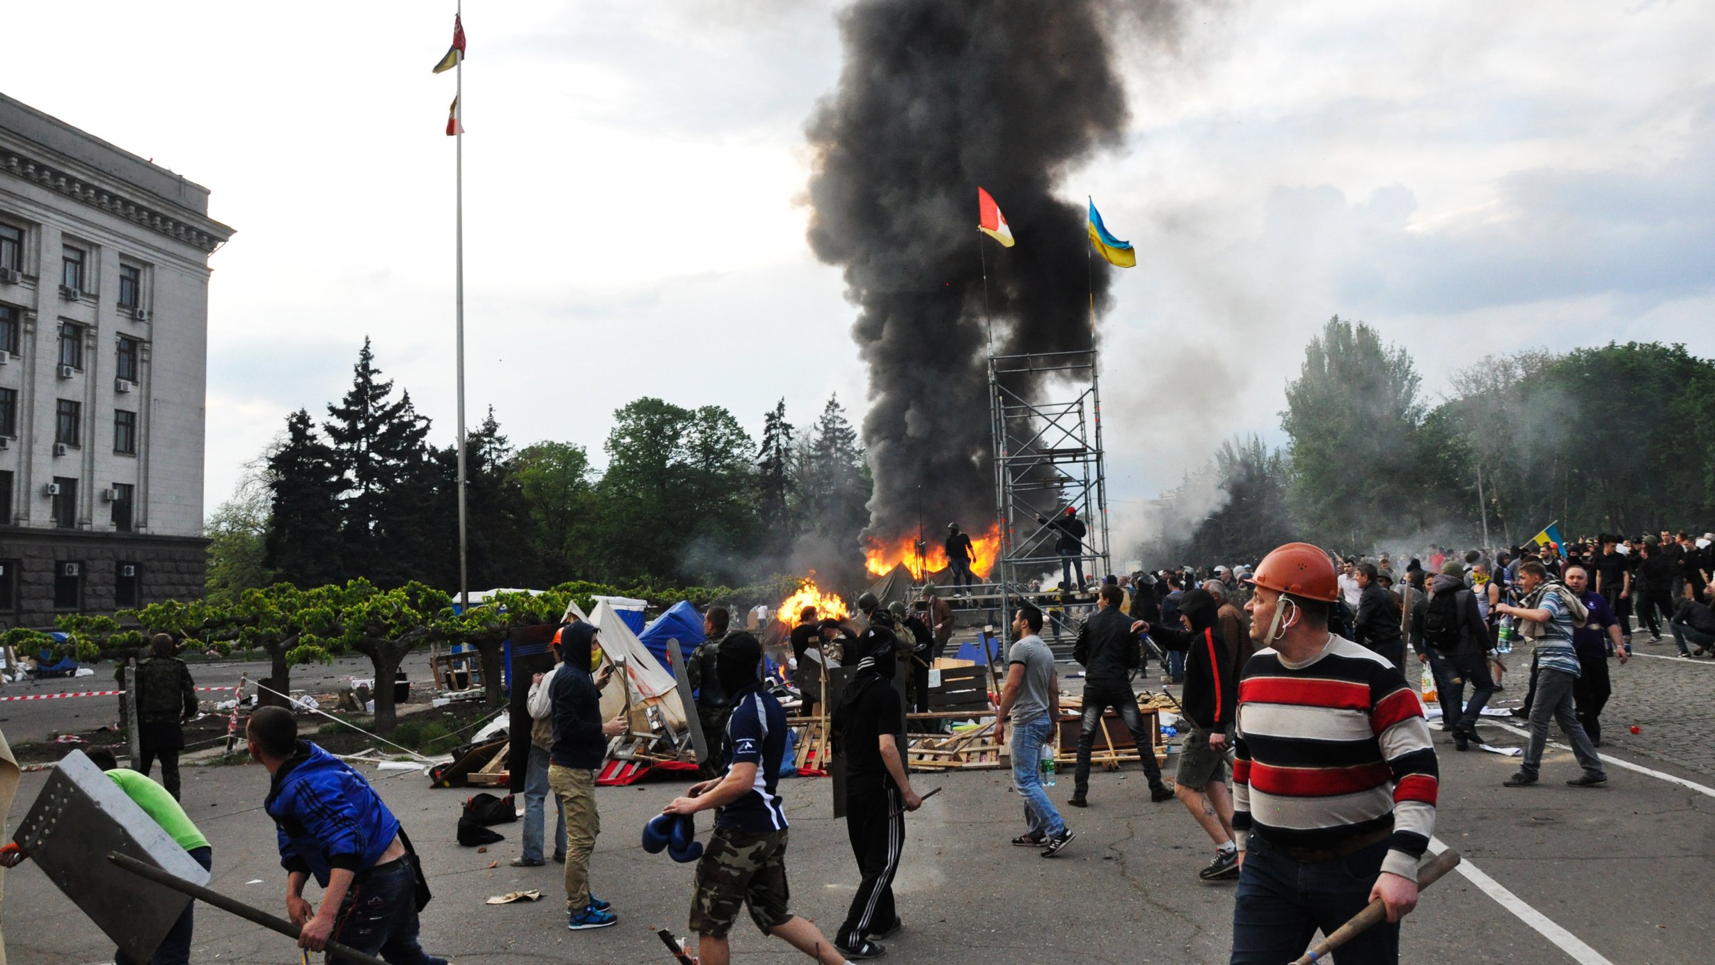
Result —
<path fill-rule="evenodd" d="M 1226 639 L 1216 628 L 1218 616 L 1214 594 L 1192 589 L 1185 591 L 1180 601 L 1183 628 L 1142 627 L 1164 647 L 1185 652 L 1185 692 L 1180 706 L 1190 721 L 1190 733 L 1180 747 L 1173 793 L 1214 840 L 1214 860 L 1197 872 L 1204 881 L 1238 877 L 1233 798 L 1226 790 L 1226 747 L 1231 742 L 1233 711 L 1238 706 L 1238 678 L 1233 673 Z"/>

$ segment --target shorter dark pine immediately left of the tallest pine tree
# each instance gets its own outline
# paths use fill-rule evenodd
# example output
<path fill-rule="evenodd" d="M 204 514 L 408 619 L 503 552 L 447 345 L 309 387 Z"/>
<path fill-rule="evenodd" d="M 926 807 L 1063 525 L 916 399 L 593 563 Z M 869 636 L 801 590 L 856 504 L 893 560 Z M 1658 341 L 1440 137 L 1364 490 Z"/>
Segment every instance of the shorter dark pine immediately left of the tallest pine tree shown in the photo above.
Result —
<path fill-rule="evenodd" d="M 269 522 L 264 567 L 300 587 L 343 582 L 340 472 L 310 414 L 286 417 L 286 441 L 268 457 Z"/>

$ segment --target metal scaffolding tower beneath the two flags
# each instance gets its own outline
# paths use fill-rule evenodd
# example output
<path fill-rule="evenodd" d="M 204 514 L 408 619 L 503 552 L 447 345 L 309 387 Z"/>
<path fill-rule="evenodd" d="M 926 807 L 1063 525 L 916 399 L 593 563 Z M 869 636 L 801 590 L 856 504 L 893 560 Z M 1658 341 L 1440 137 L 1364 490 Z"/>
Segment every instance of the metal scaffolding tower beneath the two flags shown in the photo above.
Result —
<path fill-rule="evenodd" d="M 1062 579 L 1063 558 L 1055 549 L 1060 532 L 1041 520 L 1077 507 L 1087 527 L 1082 553 L 1075 556 L 1086 586 L 1094 589 L 1111 570 L 1096 361 L 1094 349 L 988 359 L 1000 519 L 1000 553 L 990 582 L 1000 584 L 1003 646 L 1012 644 L 1012 615 L 1019 601 L 1043 598 L 1031 592 L 1029 582 L 1051 574 L 1044 580 L 1050 591 Z M 1077 580 L 1075 572 L 1072 580 Z M 1068 589 L 1077 591 L 1075 586 Z"/>

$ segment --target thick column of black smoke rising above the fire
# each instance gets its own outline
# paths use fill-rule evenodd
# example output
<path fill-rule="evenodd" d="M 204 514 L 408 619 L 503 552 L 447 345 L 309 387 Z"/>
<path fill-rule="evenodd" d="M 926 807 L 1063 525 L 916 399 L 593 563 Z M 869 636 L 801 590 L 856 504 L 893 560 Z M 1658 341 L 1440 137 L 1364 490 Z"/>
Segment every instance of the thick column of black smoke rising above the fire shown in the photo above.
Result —
<path fill-rule="evenodd" d="M 1175 19 L 1135 0 L 859 0 L 844 14 L 845 69 L 808 125 L 809 244 L 845 268 L 859 307 L 871 534 L 914 532 L 919 512 L 930 532 L 995 519 L 976 246 L 996 350 L 1091 345 L 1084 204 L 1051 191 L 1125 129 L 1111 45 Z M 978 234 L 978 185 L 1015 247 Z M 1098 311 L 1108 278 L 1096 264 Z"/>

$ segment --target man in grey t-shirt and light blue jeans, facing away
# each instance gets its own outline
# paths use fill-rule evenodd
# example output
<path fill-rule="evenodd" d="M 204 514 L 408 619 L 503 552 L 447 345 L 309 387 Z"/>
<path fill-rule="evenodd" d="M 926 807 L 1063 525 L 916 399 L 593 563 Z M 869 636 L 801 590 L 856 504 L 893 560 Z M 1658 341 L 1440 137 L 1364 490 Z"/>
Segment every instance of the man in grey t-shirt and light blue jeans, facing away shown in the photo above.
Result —
<path fill-rule="evenodd" d="M 995 738 L 1005 740 L 1005 725 L 1012 721 L 1012 783 L 1024 797 L 1024 817 L 1029 828 L 1012 840 L 1020 848 L 1043 848 L 1051 859 L 1072 841 L 1072 829 L 1060 819 L 1048 792 L 1043 790 L 1041 752 L 1044 743 L 1058 747 L 1060 735 L 1060 678 L 1055 658 L 1038 635 L 1043 630 L 1043 611 L 1024 604 L 1012 622 L 1019 642 L 1007 651 L 1007 683 L 1000 690 L 995 711 Z"/>

